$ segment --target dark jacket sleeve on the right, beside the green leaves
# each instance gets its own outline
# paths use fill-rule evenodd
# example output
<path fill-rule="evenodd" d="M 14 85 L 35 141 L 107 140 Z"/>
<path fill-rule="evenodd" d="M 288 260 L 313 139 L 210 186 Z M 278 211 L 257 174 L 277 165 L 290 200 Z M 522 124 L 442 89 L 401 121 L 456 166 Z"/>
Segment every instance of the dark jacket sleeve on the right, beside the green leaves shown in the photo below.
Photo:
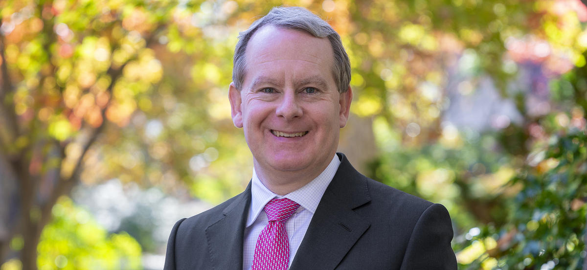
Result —
<path fill-rule="evenodd" d="M 402 262 L 402 270 L 456 270 L 457 259 L 451 248 L 453 226 L 441 204 L 430 205 L 416 222 Z"/>

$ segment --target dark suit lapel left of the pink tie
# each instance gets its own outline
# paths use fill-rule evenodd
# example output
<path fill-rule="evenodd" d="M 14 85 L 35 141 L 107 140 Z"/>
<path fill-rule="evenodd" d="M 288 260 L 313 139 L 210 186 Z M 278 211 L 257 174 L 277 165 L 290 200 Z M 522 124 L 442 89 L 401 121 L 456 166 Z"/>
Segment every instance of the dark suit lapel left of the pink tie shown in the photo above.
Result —
<path fill-rule="evenodd" d="M 208 251 L 214 269 L 242 269 L 242 245 L 249 205 L 251 183 L 232 204 L 222 211 L 220 220 L 206 228 Z"/>

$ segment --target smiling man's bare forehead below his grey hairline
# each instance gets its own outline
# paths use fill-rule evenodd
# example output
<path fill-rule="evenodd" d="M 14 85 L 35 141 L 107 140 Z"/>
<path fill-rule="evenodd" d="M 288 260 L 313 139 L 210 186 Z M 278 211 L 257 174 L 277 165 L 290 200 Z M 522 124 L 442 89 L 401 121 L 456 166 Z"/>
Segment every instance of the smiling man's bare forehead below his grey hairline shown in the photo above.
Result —
<path fill-rule="evenodd" d="M 332 79 L 333 50 L 328 38 L 316 38 L 305 31 L 263 26 L 255 32 L 247 44 L 245 59 L 247 76 L 262 72 L 289 72 L 296 74 L 328 73 Z M 327 74 L 323 74 L 326 76 Z M 247 78 L 245 77 L 245 80 Z M 250 79 L 250 78 L 249 78 Z"/>

